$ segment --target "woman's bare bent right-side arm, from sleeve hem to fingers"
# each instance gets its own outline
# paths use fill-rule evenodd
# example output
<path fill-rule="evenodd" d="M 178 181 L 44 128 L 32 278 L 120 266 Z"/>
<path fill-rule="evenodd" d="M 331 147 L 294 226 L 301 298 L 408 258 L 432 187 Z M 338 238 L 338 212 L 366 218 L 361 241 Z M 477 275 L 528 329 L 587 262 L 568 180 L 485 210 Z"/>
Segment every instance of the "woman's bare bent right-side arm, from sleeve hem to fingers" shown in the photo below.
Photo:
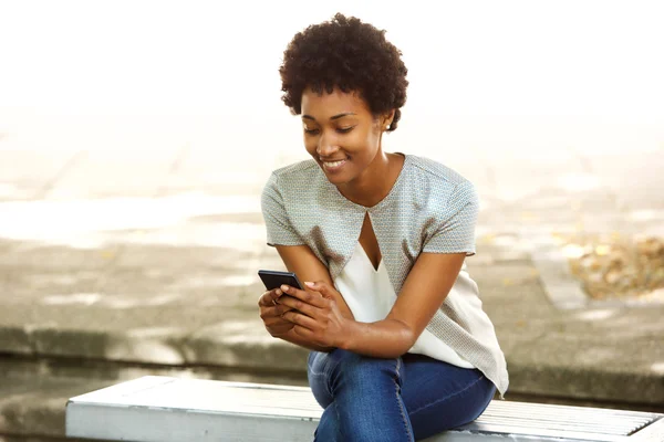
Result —
<path fill-rule="evenodd" d="M 344 317 L 338 313 L 332 297 L 336 291 L 324 282 L 311 287 L 318 294 L 290 288 L 291 297 L 281 302 L 299 312 L 288 312 L 283 318 L 294 324 L 290 333 L 308 343 L 373 357 L 398 357 L 413 347 L 440 308 L 465 256 L 465 253 L 422 253 L 383 320 L 365 324 Z"/>

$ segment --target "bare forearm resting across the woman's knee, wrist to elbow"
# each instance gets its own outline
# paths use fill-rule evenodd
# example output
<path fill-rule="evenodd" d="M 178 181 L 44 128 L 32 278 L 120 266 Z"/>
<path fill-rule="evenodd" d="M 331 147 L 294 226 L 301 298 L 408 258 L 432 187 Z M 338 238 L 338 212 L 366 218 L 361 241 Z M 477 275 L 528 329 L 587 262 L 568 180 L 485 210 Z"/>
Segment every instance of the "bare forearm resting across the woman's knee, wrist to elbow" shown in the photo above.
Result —
<path fill-rule="evenodd" d="M 407 352 L 415 344 L 415 333 L 396 319 L 376 323 L 349 324 L 347 338 L 340 345 L 344 350 L 375 358 L 396 358 Z"/>

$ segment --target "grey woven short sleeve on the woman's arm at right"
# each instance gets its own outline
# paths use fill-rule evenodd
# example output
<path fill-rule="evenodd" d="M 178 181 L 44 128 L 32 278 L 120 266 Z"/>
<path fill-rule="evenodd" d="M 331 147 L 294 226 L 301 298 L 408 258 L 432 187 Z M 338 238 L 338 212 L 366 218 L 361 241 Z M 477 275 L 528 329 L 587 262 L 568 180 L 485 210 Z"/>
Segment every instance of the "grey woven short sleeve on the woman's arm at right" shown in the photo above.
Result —
<path fill-rule="evenodd" d="M 470 181 L 456 186 L 445 208 L 440 212 L 439 222 L 426 243 L 423 252 L 475 254 L 475 225 L 479 211 L 479 199 Z"/>

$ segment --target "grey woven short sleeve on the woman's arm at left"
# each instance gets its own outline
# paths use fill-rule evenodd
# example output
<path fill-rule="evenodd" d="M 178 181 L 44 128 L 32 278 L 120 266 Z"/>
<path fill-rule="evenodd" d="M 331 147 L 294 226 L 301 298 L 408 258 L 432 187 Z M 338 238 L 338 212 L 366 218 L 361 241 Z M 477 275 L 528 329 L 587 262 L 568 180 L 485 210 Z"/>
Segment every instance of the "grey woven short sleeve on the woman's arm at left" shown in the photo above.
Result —
<path fill-rule="evenodd" d="M 261 210 L 266 221 L 268 245 L 300 245 L 304 241 L 290 223 L 288 211 L 279 189 L 279 178 L 270 176 L 261 196 Z"/>

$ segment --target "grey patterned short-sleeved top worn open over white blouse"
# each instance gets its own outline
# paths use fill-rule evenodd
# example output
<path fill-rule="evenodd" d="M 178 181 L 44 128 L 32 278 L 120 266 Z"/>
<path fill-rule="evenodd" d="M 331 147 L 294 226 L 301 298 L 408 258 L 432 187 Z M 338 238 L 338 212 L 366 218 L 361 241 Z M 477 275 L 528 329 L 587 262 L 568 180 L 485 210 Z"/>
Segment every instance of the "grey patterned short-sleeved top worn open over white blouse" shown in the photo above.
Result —
<path fill-rule="evenodd" d="M 307 160 L 272 172 L 263 189 L 262 212 L 269 245 L 309 245 L 332 281 L 351 259 L 369 213 L 397 294 L 419 253 L 475 254 L 478 198 L 473 183 L 448 167 L 412 155 L 405 156 L 390 193 L 371 208 L 347 200 L 314 160 Z M 464 275 L 426 329 L 483 371 L 502 396 L 508 387 L 505 356 L 481 308 L 477 284 Z"/>

